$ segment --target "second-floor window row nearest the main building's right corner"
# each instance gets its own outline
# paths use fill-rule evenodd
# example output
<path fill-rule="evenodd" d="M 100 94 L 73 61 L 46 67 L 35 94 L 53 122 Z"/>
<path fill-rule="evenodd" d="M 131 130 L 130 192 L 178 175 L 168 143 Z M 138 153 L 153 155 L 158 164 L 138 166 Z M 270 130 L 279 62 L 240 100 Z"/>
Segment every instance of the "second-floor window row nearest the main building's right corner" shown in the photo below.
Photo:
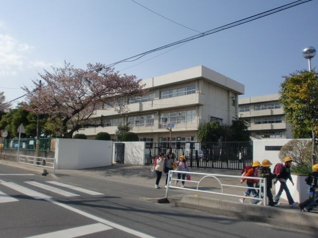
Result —
<path fill-rule="evenodd" d="M 159 121 L 161 123 L 193 123 L 195 120 L 195 110 L 181 111 L 174 113 L 161 113 Z"/>

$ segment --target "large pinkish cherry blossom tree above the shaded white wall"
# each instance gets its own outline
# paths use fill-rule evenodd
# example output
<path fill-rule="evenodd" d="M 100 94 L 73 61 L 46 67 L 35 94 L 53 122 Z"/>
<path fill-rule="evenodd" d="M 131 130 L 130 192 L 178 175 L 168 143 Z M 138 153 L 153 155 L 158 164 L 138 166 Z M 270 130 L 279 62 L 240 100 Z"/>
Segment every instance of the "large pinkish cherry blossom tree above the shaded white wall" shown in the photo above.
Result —
<path fill-rule="evenodd" d="M 49 126 L 56 136 L 71 138 L 80 128 L 102 125 L 102 119 L 91 118 L 103 103 L 122 112 L 125 106 L 118 105 L 122 98 L 144 94 L 144 85 L 136 76 L 120 75 L 101 63 L 88 63 L 83 70 L 65 62 L 64 67 L 52 67 L 52 71 L 39 73 L 41 81 L 33 80 L 35 89 L 23 89 L 27 93 L 27 109 L 49 115 Z"/>

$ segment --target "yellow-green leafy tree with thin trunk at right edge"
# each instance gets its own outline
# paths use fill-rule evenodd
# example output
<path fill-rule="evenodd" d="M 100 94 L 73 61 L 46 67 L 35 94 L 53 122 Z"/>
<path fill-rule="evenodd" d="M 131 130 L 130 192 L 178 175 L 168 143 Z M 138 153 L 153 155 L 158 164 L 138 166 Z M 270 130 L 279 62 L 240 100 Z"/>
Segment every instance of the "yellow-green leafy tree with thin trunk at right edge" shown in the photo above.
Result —
<path fill-rule="evenodd" d="M 312 135 L 312 164 L 316 164 L 316 135 L 318 133 L 318 73 L 296 71 L 283 76 L 280 102 L 283 104 L 286 120 L 292 126 L 294 136 Z"/>

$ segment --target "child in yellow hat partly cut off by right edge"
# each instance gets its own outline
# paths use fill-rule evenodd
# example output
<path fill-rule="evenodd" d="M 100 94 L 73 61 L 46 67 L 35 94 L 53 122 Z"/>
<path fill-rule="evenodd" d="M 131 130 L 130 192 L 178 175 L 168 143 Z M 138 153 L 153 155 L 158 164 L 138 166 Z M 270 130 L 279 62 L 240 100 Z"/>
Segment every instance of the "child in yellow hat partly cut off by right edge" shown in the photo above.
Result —
<path fill-rule="evenodd" d="M 310 212 L 318 206 L 318 164 L 313 165 L 313 173 L 306 178 L 307 184 L 310 185 L 310 197 L 306 201 L 298 204 L 300 210 Z"/>

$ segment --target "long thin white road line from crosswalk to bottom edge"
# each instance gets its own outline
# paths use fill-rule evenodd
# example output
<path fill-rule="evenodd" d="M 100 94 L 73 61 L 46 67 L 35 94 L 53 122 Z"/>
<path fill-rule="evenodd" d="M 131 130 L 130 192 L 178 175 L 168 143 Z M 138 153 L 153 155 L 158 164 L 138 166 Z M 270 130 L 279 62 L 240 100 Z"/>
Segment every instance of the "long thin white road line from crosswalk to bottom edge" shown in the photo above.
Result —
<path fill-rule="evenodd" d="M 96 216 L 94 216 L 94 215 L 91 215 L 91 214 L 89 214 L 89 213 L 87 213 L 87 212 L 84 212 L 84 211 L 81 211 L 81 210 L 79 210 L 79 209 L 77 209 L 77 208 L 74 208 L 74 207 L 71 207 L 71 206 L 69 206 L 69 205 L 66 205 L 66 204 L 64 204 L 64 203 L 57 202 L 57 201 L 55 201 L 55 200 L 53 200 L 53 199 L 45 198 L 44 200 L 46 200 L 46 201 L 48 201 L 48 202 L 52 202 L 52 203 L 54 203 L 54 204 L 56 204 L 56 205 L 58 205 L 58 206 L 64 207 L 65 209 L 68 209 L 68 210 L 70 210 L 70 211 L 73 211 L 73 212 L 75 212 L 75 213 L 78 213 L 78 214 L 80 214 L 80 215 L 82 215 L 82 216 L 84 216 L 84 217 L 90 218 L 90 219 L 92 219 L 92 220 L 95 220 L 95 221 L 100 222 L 100 223 L 102 223 L 102 224 L 105 224 L 105 225 L 107 225 L 107 226 L 116 228 L 116 229 L 118 229 L 118 230 L 121 230 L 121 231 L 123 231 L 123 232 L 127 232 L 127 233 L 129 233 L 129 234 L 132 234 L 132 235 L 134 235 L 134 236 L 136 236 L 136 237 L 140 237 L 140 238 L 154 238 L 154 237 L 149 236 L 149 235 L 147 235 L 147 234 L 144 234 L 144 233 L 135 231 L 135 230 L 133 230 L 133 229 L 129 229 L 129 228 L 127 228 L 127 227 L 121 226 L 121 225 L 119 225 L 119 224 L 116 224 L 116 223 L 113 223 L 113 222 L 110 222 L 110 221 L 107 221 L 107 220 L 105 220 L 105 219 L 103 219 L 103 218 L 96 217 Z"/>

